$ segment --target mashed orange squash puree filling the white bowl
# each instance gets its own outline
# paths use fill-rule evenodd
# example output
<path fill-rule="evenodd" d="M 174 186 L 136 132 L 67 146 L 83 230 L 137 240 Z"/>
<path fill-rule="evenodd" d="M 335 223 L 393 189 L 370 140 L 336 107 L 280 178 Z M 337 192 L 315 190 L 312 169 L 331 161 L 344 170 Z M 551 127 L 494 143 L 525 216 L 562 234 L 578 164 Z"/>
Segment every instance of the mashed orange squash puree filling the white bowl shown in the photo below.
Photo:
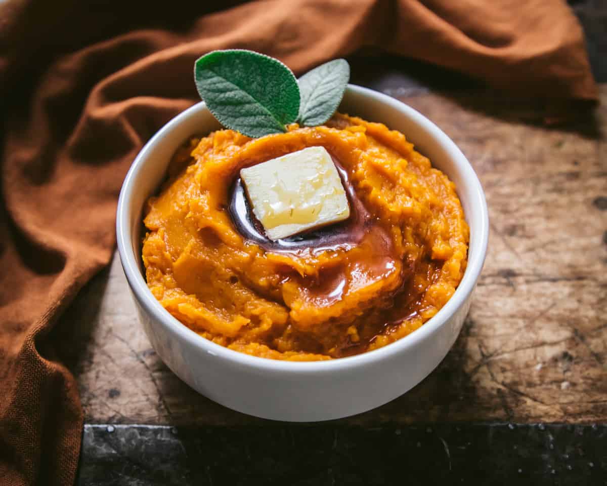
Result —
<path fill-rule="evenodd" d="M 296 248 L 243 236 L 229 211 L 240 169 L 308 146 L 324 146 L 345 172 L 363 230 Z M 466 269 L 469 230 L 453 183 L 401 133 L 347 115 L 260 139 L 221 130 L 193 140 L 146 212 L 154 296 L 203 337 L 259 357 L 325 360 L 385 346 L 435 315 Z"/>

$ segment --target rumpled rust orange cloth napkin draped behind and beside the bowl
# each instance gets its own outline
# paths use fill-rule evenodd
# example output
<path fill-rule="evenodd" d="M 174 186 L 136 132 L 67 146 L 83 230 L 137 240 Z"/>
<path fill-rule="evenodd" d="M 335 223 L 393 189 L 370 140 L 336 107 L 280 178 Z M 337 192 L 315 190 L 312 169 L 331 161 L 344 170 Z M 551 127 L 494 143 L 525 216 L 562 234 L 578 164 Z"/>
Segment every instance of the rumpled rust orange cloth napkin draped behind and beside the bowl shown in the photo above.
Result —
<path fill-rule="evenodd" d="M 109 262 L 137 151 L 197 101 L 194 61 L 235 47 L 296 74 L 374 47 L 526 95 L 597 95 L 561 0 L 0 2 L 1 484 L 73 483 L 83 411 L 53 329 L 78 326 L 61 314 Z"/>

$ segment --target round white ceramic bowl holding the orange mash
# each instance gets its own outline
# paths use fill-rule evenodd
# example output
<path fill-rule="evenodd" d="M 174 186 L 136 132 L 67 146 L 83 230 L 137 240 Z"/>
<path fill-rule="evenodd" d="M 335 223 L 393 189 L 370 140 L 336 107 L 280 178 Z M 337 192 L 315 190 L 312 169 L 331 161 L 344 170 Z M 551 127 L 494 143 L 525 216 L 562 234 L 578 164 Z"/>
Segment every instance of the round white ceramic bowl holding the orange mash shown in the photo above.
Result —
<path fill-rule="evenodd" d="M 164 363 L 211 400 L 266 419 L 304 422 L 365 412 L 417 385 L 458 337 L 483 267 L 489 222 L 480 182 L 470 163 L 432 121 L 386 95 L 348 86 L 340 111 L 397 129 L 446 173 L 470 225 L 464 278 L 435 317 L 412 334 L 375 351 L 330 361 L 275 361 L 214 344 L 164 310 L 146 286 L 141 263 L 141 210 L 164 179 L 169 160 L 188 137 L 218 128 L 204 103 L 169 121 L 135 159 L 118 201 L 117 238 L 124 274 L 141 322 Z"/>

